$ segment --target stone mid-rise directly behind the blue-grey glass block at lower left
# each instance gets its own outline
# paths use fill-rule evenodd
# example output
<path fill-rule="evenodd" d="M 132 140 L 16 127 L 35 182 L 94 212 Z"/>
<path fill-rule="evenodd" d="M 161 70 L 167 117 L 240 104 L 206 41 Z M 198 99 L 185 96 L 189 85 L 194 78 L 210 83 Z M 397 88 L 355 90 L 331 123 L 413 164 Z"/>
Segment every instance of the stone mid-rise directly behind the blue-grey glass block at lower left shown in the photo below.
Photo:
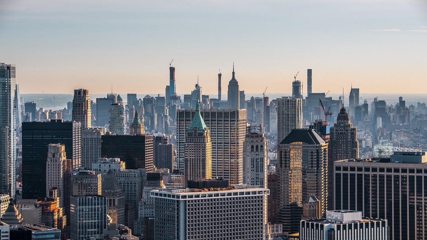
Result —
<path fill-rule="evenodd" d="M 101 195 L 101 184 L 100 174 L 79 170 L 73 175 L 73 196 Z"/>

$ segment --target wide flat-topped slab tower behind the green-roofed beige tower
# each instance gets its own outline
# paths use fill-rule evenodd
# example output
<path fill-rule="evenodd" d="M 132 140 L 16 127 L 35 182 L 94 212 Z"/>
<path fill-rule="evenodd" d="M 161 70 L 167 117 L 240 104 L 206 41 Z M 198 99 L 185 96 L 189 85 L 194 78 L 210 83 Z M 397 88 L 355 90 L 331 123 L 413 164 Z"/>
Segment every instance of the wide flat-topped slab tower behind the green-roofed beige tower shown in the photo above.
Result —
<path fill-rule="evenodd" d="M 178 169 L 184 173 L 185 135 L 196 114 L 195 109 L 178 109 L 176 144 Z M 243 141 L 246 134 L 246 110 L 200 109 L 211 134 L 212 178 L 243 183 Z"/>

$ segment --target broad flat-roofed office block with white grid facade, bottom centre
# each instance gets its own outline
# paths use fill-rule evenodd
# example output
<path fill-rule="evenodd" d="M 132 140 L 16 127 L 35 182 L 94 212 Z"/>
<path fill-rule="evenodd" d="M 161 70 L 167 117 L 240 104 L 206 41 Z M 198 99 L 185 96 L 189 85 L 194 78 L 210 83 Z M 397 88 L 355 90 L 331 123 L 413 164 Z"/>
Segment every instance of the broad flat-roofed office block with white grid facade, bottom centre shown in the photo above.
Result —
<path fill-rule="evenodd" d="M 269 190 L 259 187 L 152 190 L 154 237 L 156 240 L 264 239 L 264 196 L 269 195 Z"/>

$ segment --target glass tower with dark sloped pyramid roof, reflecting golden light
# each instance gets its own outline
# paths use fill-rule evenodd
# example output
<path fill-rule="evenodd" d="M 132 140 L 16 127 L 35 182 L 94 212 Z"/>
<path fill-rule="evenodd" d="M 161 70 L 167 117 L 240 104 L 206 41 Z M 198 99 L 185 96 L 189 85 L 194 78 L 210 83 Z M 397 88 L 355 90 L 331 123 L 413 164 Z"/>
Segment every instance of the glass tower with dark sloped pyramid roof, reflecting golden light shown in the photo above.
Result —
<path fill-rule="evenodd" d="M 278 144 L 278 223 L 298 232 L 302 201 L 311 194 L 325 216 L 328 203 L 328 144 L 313 129 L 293 129 Z"/>

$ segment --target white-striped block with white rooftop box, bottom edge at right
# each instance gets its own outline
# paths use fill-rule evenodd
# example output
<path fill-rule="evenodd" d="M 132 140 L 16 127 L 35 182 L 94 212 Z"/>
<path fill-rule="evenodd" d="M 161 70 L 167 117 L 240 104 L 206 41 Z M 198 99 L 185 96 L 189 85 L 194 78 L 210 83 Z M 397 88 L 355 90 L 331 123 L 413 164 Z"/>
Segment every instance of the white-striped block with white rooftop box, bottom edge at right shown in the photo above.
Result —
<path fill-rule="evenodd" d="M 388 240 L 387 220 L 351 210 L 327 211 L 326 219 L 302 220 L 300 240 Z"/>

